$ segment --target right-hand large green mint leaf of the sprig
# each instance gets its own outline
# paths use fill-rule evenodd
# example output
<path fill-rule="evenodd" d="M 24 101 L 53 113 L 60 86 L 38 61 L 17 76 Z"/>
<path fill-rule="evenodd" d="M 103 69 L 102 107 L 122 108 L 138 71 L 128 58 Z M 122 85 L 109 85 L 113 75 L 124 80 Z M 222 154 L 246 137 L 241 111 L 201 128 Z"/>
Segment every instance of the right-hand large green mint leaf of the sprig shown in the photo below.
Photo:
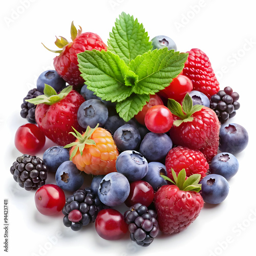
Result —
<path fill-rule="evenodd" d="M 129 68 L 138 75 L 133 91 L 137 94 L 155 94 L 169 86 L 184 68 L 187 53 L 168 50 L 167 47 L 137 56 Z"/>

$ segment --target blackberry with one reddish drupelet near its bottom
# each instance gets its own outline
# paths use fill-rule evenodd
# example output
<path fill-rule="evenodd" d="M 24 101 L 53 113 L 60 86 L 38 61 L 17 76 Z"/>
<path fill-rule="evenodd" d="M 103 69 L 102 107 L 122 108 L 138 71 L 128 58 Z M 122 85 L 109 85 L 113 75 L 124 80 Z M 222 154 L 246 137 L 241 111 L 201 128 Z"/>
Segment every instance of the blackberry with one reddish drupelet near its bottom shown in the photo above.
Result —
<path fill-rule="evenodd" d="M 91 188 L 78 189 L 73 195 L 67 197 L 66 204 L 62 209 L 63 224 L 78 231 L 82 226 L 94 222 L 98 212 L 104 208 L 97 195 Z"/>

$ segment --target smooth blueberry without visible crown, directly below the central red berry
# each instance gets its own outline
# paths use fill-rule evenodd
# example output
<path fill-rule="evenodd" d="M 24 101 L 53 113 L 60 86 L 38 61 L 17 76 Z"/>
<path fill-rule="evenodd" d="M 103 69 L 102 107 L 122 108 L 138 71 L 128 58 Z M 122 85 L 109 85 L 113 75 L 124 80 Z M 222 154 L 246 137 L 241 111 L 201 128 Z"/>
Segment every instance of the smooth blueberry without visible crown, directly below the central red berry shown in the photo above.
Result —
<path fill-rule="evenodd" d="M 159 161 L 166 157 L 173 142 L 165 133 L 147 133 L 140 143 L 140 153 L 148 162 Z"/>

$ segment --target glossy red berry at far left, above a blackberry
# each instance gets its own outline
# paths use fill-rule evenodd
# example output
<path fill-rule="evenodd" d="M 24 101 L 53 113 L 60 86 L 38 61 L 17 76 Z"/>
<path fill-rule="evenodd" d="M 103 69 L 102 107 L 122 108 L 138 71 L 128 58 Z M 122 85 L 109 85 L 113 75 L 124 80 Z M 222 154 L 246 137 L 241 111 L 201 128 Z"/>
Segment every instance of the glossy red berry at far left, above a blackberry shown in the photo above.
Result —
<path fill-rule="evenodd" d="M 33 123 L 18 127 L 14 138 L 14 144 L 19 152 L 33 156 L 44 147 L 45 142 L 45 134 Z"/>

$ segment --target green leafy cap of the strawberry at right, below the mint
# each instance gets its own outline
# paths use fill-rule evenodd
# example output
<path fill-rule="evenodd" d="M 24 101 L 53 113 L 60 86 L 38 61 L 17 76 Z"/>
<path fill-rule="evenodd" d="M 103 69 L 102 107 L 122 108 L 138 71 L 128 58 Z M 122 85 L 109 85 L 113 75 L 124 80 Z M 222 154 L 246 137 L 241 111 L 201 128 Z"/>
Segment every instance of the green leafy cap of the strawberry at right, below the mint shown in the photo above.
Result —
<path fill-rule="evenodd" d="M 193 105 L 193 100 L 187 93 L 182 101 L 182 105 L 174 99 L 168 99 L 168 109 L 172 114 L 178 116 L 181 120 L 175 120 L 174 125 L 179 126 L 183 122 L 193 121 L 192 115 L 200 111 L 203 105 Z"/>

